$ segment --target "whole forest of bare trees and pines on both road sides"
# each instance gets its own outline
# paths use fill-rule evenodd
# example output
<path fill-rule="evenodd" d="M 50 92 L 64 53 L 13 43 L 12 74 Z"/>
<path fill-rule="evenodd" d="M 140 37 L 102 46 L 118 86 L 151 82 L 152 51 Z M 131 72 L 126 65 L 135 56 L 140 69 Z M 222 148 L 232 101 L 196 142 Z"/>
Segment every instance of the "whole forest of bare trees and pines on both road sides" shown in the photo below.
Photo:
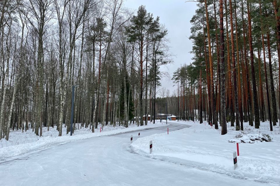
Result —
<path fill-rule="evenodd" d="M 168 28 L 123 0 L 0 1 L 0 140 L 45 127 L 155 123 L 158 113 L 270 130 L 280 119 L 280 2 L 195 1 L 193 58 L 171 74 Z M 188 3 L 188 1 L 186 2 Z M 72 105 L 72 90 L 74 104 Z M 150 115 L 150 121 L 148 121 Z M 145 117 L 146 116 L 146 117 Z M 62 129 L 66 128 L 66 134 Z"/>

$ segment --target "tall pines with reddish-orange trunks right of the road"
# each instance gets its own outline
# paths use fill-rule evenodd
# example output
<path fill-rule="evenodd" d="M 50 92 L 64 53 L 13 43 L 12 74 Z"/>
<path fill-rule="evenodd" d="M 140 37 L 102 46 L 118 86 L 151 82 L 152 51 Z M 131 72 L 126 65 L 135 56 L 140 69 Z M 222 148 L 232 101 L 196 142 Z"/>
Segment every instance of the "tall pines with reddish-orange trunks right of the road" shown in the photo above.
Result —
<path fill-rule="evenodd" d="M 276 0 L 196 1 L 190 22 L 192 62 L 173 74 L 182 119 L 207 120 L 221 134 L 226 122 L 270 130 L 280 111 L 280 2 Z"/>

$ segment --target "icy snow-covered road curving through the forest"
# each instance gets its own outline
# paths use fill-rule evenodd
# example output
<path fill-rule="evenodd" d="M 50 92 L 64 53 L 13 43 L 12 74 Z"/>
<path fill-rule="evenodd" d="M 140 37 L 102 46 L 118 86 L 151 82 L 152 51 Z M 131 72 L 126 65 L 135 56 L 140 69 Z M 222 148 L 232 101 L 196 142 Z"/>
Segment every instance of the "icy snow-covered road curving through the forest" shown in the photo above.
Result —
<path fill-rule="evenodd" d="M 163 132 L 167 126 L 140 134 Z M 69 142 L 0 162 L 0 185 L 267 185 L 139 155 L 129 145 L 130 135 L 136 140 L 138 132 Z"/>

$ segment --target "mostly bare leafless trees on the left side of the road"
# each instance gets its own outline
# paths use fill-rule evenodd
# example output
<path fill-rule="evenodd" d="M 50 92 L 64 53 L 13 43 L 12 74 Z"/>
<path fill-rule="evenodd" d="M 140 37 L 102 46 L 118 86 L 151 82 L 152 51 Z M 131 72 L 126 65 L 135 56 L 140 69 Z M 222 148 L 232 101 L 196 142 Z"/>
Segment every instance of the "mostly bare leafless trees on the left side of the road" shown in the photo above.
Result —
<path fill-rule="evenodd" d="M 0 140 L 43 127 L 68 134 L 74 85 L 73 132 L 147 125 L 160 66 L 172 62 L 159 17 L 123 0 L 0 1 L 0 52 Z"/>

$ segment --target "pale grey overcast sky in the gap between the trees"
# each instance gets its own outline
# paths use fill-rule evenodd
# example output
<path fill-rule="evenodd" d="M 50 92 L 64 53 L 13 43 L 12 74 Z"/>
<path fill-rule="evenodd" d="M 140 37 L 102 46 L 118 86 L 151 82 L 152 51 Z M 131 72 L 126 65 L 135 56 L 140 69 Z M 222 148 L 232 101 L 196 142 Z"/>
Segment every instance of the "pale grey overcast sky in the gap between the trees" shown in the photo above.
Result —
<path fill-rule="evenodd" d="M 137 10 L 139 6 L 145 5 L 147 12 L 153 13 L 154 17 L 160 17 L 160 23 L 164 24 L 168 30 L 170 40 L 169 46 L 174 56 L 174 63 L 168 67 L 161 67 L 161 71 L 167 71 L 172 77 L 173 72 L 181 65 L 192 61 L 192 42 L 190 36 L 190 19 L 197 9 L 195 2 L 185 2 L 185 0 L 126 0 L 125 6 Z M 163 78 L 162 86 L 170 90 L 177 90 L 173 87 L 172 80 Z M 160 95 L 158 95 L 160 96 Z"/>

